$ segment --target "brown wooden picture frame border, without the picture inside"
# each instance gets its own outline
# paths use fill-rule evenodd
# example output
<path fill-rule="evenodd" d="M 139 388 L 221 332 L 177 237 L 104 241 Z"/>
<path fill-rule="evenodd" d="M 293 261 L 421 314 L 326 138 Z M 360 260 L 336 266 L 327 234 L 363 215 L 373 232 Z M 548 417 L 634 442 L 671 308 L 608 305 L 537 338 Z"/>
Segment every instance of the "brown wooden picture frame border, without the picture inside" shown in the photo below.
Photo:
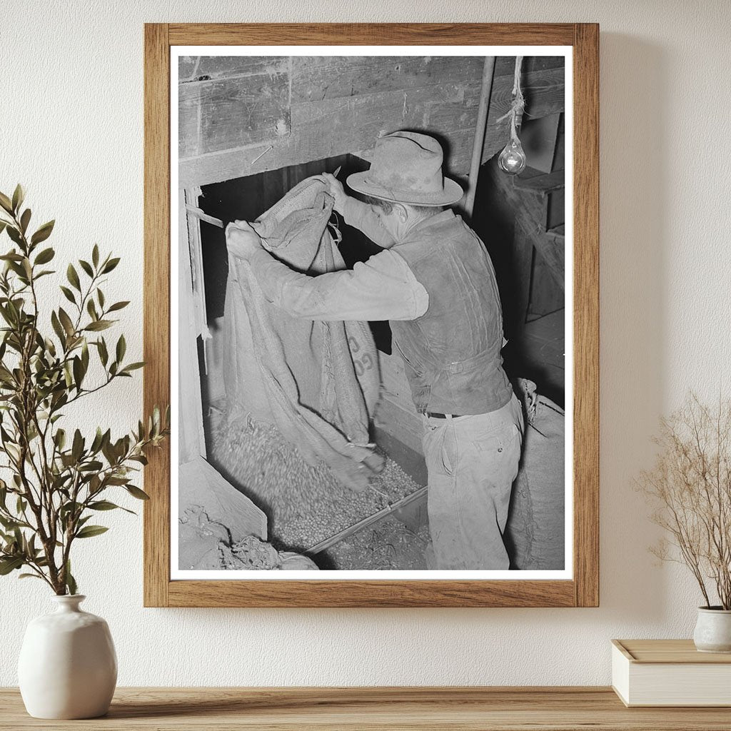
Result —
<path fill-rule="evenodd" d="M 573 58 L 573 520 L 567 580 L 172 580 L 170 447 L 145 468 L 148 607 L 596 607 L 599 604 L 599 26 L 145 25 L 144 407 L 170 402 L 170 47 L 554 45 Z M 175 428 L 175 424 L 173 428 Z"/>

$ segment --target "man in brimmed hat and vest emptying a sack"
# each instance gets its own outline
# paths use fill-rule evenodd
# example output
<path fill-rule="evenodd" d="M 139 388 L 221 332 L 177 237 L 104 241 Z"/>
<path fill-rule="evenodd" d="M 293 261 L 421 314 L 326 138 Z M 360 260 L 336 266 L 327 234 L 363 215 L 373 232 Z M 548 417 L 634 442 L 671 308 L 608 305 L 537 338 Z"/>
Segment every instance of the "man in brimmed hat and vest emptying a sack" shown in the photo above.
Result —
<path fill-rule="evenodd" d="M 352 270 L 308 276 L 266 251 L 245 221 L 227 229 L 265 297 L 294 317 L 389 320 L 417 412 L 428 470 L 431 569 L 508 569 L 503 541 L 523 414 L 502 368 L 502 313 L 485 246 L 450 208 L 463 191 L 428 135 L 376 140 L 371 167 L 333 175 L 335 210 L 383 251 Z"/>

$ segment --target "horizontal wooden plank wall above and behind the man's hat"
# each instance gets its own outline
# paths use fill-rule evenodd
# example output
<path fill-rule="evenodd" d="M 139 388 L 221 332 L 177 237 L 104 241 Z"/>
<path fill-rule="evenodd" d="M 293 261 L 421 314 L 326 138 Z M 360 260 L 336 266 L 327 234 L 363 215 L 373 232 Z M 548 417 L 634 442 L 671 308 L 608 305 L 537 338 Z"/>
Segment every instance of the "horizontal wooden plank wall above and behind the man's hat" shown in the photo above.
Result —
<path fill-rule="evenodd" d="M 439 137 L 447 170 L 469 172 L 479 56 L 187 56 L 179 72 L 181 187 L 372 148 L 397 129 Z M 513 57 L 496 61 L 483 159 L 509 135 Z M 526 115 L 563 109 L 563 58 L 523 62 Z"/>

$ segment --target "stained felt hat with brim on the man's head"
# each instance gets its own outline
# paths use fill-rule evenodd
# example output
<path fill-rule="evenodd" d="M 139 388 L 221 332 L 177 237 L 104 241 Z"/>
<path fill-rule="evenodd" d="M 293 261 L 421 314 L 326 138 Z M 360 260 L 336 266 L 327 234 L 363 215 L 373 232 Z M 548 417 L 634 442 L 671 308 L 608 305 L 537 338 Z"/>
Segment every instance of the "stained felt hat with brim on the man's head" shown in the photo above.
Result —
<path fill-rule="evenodd" d="M 418 132 L 379 137 L 371 169 L 348 175 L 355 191 L 380 200 L 412 205 L 452 205 L 463 195 L 459 183 L 442 174 L 442 145 Z"/>

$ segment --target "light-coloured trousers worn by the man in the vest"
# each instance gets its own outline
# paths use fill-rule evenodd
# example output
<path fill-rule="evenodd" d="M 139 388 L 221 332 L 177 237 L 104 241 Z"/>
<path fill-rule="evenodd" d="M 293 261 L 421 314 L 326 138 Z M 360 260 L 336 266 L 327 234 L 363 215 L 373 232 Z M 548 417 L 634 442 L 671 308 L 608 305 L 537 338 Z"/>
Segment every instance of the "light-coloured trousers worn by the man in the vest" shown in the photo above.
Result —
<path fill-rule="evenodd" d="M 435 569 L 508 569 L 503 534 L 523 443 L 515 394 L 488 414 L 424 417 Z"/>

